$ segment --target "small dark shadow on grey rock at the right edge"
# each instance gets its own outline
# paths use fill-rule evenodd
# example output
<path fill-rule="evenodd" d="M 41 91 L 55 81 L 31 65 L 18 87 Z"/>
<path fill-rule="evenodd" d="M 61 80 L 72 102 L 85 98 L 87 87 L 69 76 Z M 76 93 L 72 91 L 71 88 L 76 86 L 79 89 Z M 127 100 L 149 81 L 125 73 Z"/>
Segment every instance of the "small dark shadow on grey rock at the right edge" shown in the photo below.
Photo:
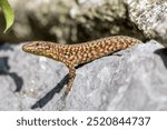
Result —
<path fill-rule="evenodd" d="M 165 67 L 167 68 L 167 48 L 158 49 L 155 53 L 160 56 Z"/>

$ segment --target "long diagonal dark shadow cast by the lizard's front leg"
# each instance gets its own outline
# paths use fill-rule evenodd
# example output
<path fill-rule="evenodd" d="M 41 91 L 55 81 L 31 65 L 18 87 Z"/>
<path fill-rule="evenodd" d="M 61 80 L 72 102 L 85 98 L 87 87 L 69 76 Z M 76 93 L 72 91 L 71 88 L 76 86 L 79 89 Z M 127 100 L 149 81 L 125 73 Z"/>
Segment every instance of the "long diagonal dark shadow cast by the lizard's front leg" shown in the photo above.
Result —
<path fill-rule="evenodd" d="M 63 77 L 63 79 L 53 88 L 51 89 L 43 98 L 41 98 L 40 100 L 38 100 L 32 107 L 31 109 L 37 109 L 37 108 L 42 108 L 45 107 L 52 98 L 56 93 L 59 93 L 61 91 L 61 89 L 63 88 L 63 86 L 67 83 L 68 81 L 68 74 L 66 74 Z"/>

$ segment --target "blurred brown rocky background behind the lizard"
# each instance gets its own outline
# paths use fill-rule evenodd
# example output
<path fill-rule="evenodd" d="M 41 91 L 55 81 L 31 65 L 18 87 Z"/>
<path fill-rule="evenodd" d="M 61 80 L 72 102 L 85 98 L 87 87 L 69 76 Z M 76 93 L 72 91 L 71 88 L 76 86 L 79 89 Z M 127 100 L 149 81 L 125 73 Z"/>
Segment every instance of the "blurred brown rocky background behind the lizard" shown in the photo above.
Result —
<path fill-rule="evenodd" d="M 71 43 L 110 34 L 144 39 L 129 21 L 124 0 L 10 0 L 10 3 L 16 21 L 8 36 L 0 33 L 2 42 L 38 39 Z M 4 21 L 2 16 L 0 20 Z"/>

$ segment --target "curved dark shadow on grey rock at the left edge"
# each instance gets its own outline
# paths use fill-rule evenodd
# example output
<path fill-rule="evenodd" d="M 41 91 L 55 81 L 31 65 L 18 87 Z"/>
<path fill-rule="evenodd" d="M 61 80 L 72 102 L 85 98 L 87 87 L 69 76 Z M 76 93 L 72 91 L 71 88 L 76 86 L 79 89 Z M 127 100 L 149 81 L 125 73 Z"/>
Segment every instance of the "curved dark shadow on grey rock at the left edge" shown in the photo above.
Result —
<path fill-rule="evenodd" d="M 8 57 L 0 58 L 0 76 L 9 76 L 16 83 L 16 92 L 20 91 L 23 84 L 23 80 L 16 72 L 9 72 L 10 67 L 8 64 Z"/>

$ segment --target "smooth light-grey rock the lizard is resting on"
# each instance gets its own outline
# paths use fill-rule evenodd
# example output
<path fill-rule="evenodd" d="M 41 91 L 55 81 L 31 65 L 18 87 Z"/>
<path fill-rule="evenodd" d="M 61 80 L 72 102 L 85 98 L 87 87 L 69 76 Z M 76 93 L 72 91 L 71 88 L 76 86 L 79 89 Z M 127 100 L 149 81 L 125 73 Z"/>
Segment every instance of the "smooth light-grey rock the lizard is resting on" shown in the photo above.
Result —
<path fill-rule="evenodd" d="M 95 60 L 77 70 L 63 99 L 63 64 L 22 52 L 21 44 L 3 44 L 0 110 L 167 110 L 166 58 L 151 40 Z"/>

